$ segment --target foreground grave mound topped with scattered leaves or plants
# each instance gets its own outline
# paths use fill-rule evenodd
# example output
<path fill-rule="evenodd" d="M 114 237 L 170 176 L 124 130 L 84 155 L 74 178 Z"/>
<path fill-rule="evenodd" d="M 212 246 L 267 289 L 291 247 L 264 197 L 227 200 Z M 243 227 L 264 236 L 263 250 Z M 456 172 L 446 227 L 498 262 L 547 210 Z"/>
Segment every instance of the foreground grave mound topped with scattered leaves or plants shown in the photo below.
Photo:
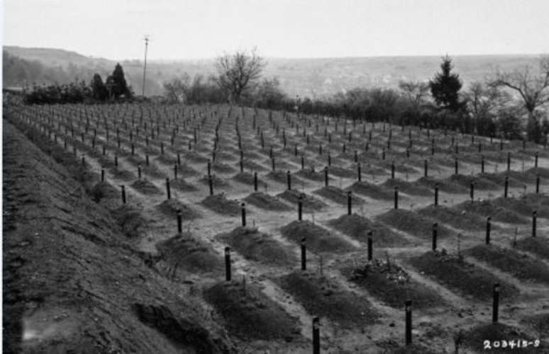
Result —
<path fill-rule="evenodd" d="M 343 275 L 355 284 L 364 287 L 368 293 L 385 304 L 400 309 L 404 299 L 411 299 L 414 308 L 423 309 L 444 306 L 445 301 L 438 293 L 412 280 L 406 270 L 398 264 L 383 259 L 374 259 L 360 265 L 347 266 Z"/>

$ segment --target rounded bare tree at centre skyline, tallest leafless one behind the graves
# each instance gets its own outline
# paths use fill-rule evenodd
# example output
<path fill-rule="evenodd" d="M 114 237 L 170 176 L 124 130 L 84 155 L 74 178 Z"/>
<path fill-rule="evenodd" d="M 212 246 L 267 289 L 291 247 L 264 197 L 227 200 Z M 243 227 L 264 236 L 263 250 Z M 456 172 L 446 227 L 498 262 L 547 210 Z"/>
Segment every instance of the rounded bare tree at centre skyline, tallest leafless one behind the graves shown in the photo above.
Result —
<path fill-rule="evenodd" d="M 248 52 L 235 52 L 216 59 L 219 87 L 226 91 L 229 101 L 238 103 L 246 89 L 259 79 L 265 61 L 255 49 Z"/>

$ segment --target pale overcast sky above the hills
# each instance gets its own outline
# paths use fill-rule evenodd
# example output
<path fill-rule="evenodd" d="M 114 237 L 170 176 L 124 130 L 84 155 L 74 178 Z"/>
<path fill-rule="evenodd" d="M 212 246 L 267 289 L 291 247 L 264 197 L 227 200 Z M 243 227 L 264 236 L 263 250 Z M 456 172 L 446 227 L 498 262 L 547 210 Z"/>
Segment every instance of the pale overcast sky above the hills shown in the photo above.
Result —
<path fill-rule="evenodd" d="M 4 45 L 205 58 L 549 52 L 549 0 L 3 0 Z"/>

